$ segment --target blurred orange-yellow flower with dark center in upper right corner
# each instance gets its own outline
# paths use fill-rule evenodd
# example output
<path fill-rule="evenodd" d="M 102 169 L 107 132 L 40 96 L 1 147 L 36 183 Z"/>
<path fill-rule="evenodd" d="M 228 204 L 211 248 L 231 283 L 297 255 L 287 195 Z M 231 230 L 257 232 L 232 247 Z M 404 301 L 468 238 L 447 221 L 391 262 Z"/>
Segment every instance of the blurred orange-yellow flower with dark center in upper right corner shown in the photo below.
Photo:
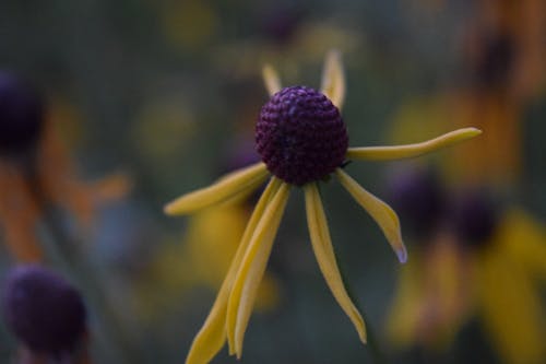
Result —
<path fill-rule="evenodd" d="M 462 22 L 462 74 L 449 90 L 413 97 L 394 115 L 393 142 L 418 130 L 473 125 L 480 143 L 447 155 L 442 168 L 470 183 L 512 187 L 522 175 L 523 115 L 546 84 L 546 2 L 476 1 Z"/>

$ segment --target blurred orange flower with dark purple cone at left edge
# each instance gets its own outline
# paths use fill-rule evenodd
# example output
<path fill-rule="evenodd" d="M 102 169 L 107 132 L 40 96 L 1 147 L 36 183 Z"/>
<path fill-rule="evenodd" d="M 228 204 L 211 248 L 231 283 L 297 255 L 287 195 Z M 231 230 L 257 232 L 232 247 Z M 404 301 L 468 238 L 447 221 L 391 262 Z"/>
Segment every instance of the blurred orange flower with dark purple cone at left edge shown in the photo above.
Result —
<path fill-rule="evenodd" d="M 49 107 L 54 106 L 54 107 Z M 34 232 L 49 204 L 88 222 L 95 206 L 123 196 L 122 174 L 84 184 L 55 130 L 55 105 L 11 72 L 0 71 L 0 231 L 19 261 L 43 259 Z"/>

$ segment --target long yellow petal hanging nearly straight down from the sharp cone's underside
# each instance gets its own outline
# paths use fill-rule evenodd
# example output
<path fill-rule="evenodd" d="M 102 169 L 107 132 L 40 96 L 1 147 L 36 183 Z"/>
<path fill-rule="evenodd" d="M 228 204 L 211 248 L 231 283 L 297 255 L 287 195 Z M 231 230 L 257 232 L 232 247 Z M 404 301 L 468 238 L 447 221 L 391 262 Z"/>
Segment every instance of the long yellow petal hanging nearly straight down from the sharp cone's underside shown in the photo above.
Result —
<path fill-rule="evenodd" d="M 304 187 L 306 196 L 307 224 L 311 244 L 322 275 L 335 300 L 356 328 L 360 340 L 366 343 L 366 326 L 358 309 L 343 285 L 343 279 L 335 261 L 335 254 L 328 230 L 327 216 L 314 183 Z"/>

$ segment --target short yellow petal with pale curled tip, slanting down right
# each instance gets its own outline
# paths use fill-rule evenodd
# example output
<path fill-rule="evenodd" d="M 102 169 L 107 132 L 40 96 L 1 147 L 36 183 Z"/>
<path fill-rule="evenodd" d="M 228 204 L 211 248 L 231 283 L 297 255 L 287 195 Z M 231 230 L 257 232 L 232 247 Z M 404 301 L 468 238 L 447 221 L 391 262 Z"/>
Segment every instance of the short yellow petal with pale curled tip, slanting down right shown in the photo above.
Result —
<path fill-rule="evenodd" d="M 371 215 L 378 223 L 389 244 L 396 253 L 400 262 L 406 262 L 407 251 L 402 242 L 399 216 L 387 203 L 365 190 L 356 180 L 351 178 L 343 169 L 335 169 L 341 184 L 353 196 L 353 198 Z"/>

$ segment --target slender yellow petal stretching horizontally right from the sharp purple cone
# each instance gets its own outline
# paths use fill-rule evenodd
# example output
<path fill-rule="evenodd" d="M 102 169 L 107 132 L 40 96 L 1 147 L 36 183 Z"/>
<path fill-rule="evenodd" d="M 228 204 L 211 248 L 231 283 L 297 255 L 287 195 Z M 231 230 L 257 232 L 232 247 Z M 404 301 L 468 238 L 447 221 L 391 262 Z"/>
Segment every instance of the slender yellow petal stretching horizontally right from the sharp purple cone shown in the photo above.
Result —
<path fill-rule="evenodd" d="M 476 128 L 463 128 L 422 143 L 393 145 L 393 146 L 364 146 L 349 148 L 347 158 L 368 160 L 368 161 L 390 161 L 403 160 L 419 156 L 422 154 L 434 152 L 438 149 L 450 146 L 467 139 L 472 139 L 482 133 Z"/>

